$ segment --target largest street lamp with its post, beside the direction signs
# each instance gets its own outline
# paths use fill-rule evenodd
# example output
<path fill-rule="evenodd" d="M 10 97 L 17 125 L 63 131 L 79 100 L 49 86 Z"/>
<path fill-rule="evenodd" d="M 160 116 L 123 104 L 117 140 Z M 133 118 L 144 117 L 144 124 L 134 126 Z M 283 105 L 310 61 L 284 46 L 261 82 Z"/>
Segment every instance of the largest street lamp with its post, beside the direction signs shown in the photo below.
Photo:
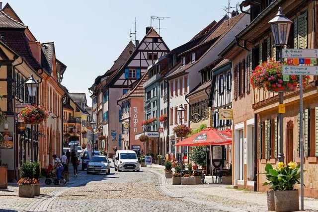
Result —
<path fill-rule="evenodd" d="M 282 12 L 282 8 L 278 8 L 278 12 L 276 16 L 268 21 L 271 26 L 274 43 L 276 46 L 276 51 L 279 53 L 279 61 L 282 61 L 282 48 L 284 45 L 287 45 L 290 26 L 293 21 L 289 20 L 285 17 Z M 303 81 L 300 79 L 300 81 Z M 279 92 L 279 104 L 283 104 L 283 92 Z M 301 113 L 302 114 L 302 113 Z M 302 119 L 301 119 L 302 120 Z M 284 162 L 284 151 L 283 151 L 283 113 L 279 113 L 278 115 L 279 122 L 279 153 L 278 153 L 278 161 Z M 301 127 L 302 129 L 302 127 Z"/>

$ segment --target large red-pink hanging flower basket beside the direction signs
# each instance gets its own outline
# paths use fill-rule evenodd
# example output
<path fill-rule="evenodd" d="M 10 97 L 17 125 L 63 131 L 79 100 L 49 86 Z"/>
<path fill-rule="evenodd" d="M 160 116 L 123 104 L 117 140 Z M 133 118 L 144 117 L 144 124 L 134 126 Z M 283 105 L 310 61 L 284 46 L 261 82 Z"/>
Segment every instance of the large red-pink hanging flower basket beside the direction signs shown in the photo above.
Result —
<path fill-rule="evenodd" d="M 299 75 L 290 75 L 288 81 L 283 80 L 283 64 L 270 60 L 257 66 L 251 74 L 250 83 L 253 88 L 272 92 L 294 91 L 299 85 Z M 309 85 L 309 75 L 303 76 L 304 87 Z"/>

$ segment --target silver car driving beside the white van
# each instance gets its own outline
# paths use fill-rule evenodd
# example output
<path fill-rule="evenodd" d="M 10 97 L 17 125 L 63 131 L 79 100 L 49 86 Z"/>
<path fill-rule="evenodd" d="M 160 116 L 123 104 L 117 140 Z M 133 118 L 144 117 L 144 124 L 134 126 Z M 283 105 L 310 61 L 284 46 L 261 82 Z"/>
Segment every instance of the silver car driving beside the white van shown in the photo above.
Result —
<path fill-rule="evenodd" d="M 109 174 L 110 162 L 104 155 L 94 155 L 87 164 L 87 174 Z"/>

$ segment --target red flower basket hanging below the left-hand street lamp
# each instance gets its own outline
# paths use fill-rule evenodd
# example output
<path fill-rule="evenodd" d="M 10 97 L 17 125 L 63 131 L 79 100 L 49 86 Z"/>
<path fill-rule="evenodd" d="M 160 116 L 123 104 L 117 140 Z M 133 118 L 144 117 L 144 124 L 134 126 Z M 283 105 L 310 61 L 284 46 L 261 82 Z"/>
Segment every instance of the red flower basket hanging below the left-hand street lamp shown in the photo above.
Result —
<path fill-rule="evenodd" d="M 49 114 L 40 106 L 26 106 L 20 111 L 20 117 L 25 124 L 40 124 Z"/>

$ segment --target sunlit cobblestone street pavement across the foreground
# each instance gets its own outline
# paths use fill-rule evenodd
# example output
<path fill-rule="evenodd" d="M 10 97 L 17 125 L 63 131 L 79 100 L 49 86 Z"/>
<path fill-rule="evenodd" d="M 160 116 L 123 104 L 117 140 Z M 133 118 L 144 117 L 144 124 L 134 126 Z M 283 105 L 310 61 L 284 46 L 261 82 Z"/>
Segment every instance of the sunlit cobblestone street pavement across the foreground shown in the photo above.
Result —
<path fill-rule="evenodd" d="M 72 173 L 72 170 L 70 170 Z M 265 212 L 266 195 L 233 189 L 229 185 L 172 185 L 164 177 L 163 166 L 141 168 L 140 172 L 86 175 L 79 171 L 63 186 L 45 185 L 41 195 L 18 198 L 17 184 L 0 190 L 0 211 L 61 212 Z M 212 182 L 210 176 L 207 182 Z M 305 198 L 305 210 L 318 211 L 318 200 Z"/>

